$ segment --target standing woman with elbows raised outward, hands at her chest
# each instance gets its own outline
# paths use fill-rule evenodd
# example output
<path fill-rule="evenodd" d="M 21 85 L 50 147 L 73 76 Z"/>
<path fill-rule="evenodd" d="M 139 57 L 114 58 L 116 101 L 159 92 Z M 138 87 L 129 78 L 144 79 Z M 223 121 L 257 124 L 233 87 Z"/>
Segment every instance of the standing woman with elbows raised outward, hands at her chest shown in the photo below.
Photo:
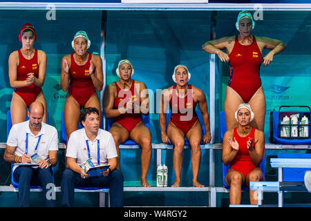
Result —
<path fill-rule="evenodd" d="M 248 103 L 256 115 L 251 125 L 263 131 L 265 127 L 265 94 L 261 86 L 259 68 L 269 65 L 274 55 L 281 53 L 285 44 L 276 39 L 252 35 L 255 23 L 252 15 L 247 11 L 238 14 L 236 29 L 238 36 L 223 37 L 207 41 L 202 49 L 211 54 L 217 54 L 221 61 L 228 62 L 230 79 L 225 99 L 225 116 L 227 130 L 236 128 L 234 111 L 241 103 Z M 263 57 L 263 49 L 270 52 Z M 227 50 L 227 53 L 222 50 Z"/>

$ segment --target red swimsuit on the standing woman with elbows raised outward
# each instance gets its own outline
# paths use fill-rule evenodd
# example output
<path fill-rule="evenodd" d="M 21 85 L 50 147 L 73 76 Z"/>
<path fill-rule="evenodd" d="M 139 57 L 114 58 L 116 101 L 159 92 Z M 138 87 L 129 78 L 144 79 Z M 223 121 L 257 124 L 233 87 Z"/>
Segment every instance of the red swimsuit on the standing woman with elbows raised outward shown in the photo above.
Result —
<path fill-rule="evenodd" d="M 263 56 L 258 48 L 256 38 L 253 36 L 252 44 L 243 46 L 238 42 L 236 36 L 229 59 L 230 78 L 228 85 L 247 103 L 261 87 L 259 70 Z"/>

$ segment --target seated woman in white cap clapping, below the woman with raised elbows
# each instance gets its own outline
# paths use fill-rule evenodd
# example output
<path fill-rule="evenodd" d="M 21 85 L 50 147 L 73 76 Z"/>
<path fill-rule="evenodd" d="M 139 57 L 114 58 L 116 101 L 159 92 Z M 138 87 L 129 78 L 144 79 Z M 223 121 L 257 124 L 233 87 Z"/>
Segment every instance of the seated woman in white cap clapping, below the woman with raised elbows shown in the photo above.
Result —
<path fill-rule="evenodd" d="M 241 203 L 241 188 L 251 181 L 263 181 L 263 171 L 259 165 L 265 152 L 265 135 L 251 126 L 254 119 L 249 104 L 241 104 L 235 113 L 238 127 L 229 130 L 223 137 L 223 163 L 230 164 L 225 182 L 230 186 L 230 204 Z M 251 204 L 257 204 L 256 191 L 249 190 Z"/>

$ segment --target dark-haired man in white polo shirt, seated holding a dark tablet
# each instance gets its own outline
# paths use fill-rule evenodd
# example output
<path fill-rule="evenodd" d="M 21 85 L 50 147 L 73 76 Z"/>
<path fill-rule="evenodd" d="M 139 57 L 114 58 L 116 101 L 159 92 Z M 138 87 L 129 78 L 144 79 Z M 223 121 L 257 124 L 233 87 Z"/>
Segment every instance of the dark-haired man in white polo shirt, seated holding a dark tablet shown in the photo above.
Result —
<path fill-rule="evenodd" d="M 79 121 L 84 128 L 71 133 L 66 148 L 66 169 L 62 177 L 62 206 L 73 206 L 75 186 L 109 186 L 111 206 L 124 204 L 122 173 L 117 166 L 117 149 L 113 136 L 100 128 L 97 108 L 84 108 Z M 79 165 L 91 159 L 93 165 L 110 165 L 100 175 L 90 177 Z"/>

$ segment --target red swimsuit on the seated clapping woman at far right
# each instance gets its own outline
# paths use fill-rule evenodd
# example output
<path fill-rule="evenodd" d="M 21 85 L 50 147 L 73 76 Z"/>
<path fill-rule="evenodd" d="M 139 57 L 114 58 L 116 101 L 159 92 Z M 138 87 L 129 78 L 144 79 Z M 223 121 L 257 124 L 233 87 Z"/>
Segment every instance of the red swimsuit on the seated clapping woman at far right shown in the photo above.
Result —
<path fill-rule="evenodd" d="M 255 128 L 252 128 L 252 131 L 246 137 L 240 137 L 240 135 L 238 135 L 238 131 L 234 128 L 234 137 L 236 137 L 236 141 L 238 142 L 238 153 L 236 153 L 236 157 L 230 165 L 230 168 L 240 171 L 246 178 L 247 174 L 256 168 L 247 148 L 249 138 L 252 138 L 254 148 Z"/>

